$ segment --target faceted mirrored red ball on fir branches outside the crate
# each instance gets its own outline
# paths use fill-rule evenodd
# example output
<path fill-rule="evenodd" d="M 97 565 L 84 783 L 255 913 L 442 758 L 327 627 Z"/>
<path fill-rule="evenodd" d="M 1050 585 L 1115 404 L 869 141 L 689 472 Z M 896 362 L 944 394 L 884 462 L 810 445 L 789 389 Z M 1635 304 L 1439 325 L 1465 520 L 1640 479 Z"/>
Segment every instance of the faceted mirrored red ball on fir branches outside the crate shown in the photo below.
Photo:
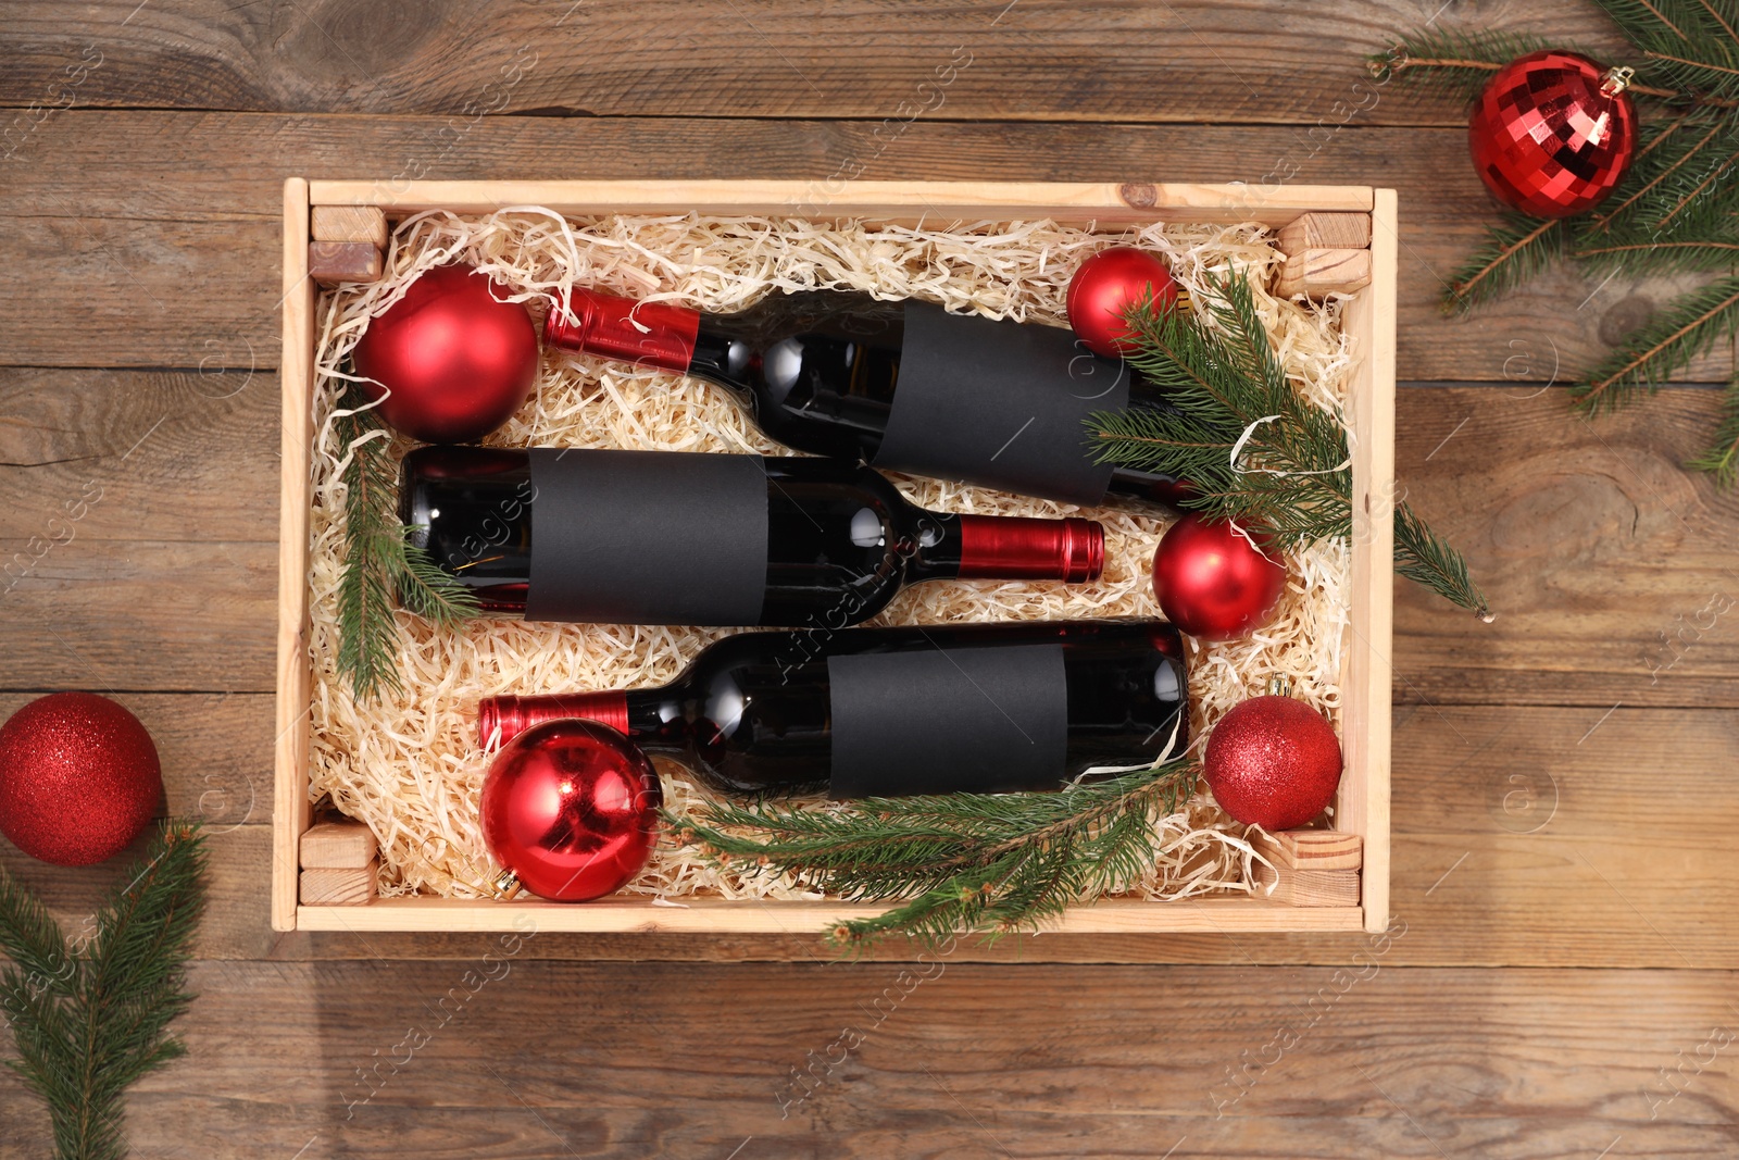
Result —
<path fill-rule="evenodd" d="M 1636 153 L 1628 70 L 1576 52 L 1530 52 L 1485 85 L 1468 122 L 1492 195 L 1534 217 L 1569 217 L 1612 193 Z"/>

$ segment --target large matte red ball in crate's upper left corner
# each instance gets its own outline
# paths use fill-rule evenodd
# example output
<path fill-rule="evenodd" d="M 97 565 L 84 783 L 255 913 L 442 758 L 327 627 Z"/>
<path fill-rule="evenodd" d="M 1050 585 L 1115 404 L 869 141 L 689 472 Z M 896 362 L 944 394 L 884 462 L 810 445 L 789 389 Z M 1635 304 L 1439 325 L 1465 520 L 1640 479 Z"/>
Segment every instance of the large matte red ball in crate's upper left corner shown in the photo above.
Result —
<path fill-rule="evenodd" d="M 356 374 L 381 419 L 426 443 L 476 440 L 506 423 L 537 379 L 537 327 L 523 303 L 471 266 L 436 266 L 369 320 Z"/>

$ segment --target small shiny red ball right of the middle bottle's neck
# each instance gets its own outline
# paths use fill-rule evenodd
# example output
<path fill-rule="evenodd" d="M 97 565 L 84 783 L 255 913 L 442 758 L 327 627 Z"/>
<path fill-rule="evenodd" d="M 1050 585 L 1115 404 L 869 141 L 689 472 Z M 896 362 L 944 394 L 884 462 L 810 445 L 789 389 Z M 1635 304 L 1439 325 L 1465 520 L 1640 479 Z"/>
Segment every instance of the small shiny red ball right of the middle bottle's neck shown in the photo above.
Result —
<path fill-rule="evenodd" d="M 1231 640 L 1266 624 L 1287 570 L 1276 550 L 1263 555 L 1250 539 L 1264 544 L 1259 530 L 1247 537 L 1226 520 L 1200 515 L 1165 529 L 1153 553 L 1153 593 L 1165 619 L 1200 640 Z"/>

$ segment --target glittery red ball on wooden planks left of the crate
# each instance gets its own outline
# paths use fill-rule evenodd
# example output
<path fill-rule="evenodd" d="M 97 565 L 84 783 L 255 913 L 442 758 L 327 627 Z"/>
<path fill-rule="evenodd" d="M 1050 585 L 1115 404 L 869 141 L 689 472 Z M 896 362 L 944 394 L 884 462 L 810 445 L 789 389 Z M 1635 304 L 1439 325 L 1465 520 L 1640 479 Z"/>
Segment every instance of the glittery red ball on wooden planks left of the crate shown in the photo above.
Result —
<path fill-rule="evenodd" d="M 56 866 L 113 857 L 163 797 L 139 718 L 92 692 L 37 697 L 0 727 L 0 833 Z"/>

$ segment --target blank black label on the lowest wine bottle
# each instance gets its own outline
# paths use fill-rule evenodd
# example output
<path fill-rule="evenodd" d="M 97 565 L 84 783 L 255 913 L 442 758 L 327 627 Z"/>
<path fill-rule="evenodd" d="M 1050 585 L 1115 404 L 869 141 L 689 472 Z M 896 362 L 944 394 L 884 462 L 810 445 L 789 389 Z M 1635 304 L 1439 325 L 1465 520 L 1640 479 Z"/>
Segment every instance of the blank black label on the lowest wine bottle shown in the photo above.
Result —
<path fill-rule="evenodd" d="M 1056 790 L 1063 645 L 828 657 L 835 798 Z"/>

